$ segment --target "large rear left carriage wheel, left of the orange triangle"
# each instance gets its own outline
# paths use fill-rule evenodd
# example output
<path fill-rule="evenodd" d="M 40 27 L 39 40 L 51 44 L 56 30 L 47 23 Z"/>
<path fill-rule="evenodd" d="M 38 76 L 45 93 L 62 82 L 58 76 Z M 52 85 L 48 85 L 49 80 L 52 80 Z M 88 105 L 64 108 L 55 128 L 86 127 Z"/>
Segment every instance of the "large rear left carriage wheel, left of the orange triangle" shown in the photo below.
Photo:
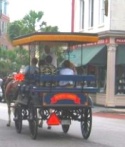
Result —
<path fill-rule="evenodd" d="M 29 128 L 32 139 L 36 139 L 38 132 L 37 110 L 32 105 L 29 110 Z"/>

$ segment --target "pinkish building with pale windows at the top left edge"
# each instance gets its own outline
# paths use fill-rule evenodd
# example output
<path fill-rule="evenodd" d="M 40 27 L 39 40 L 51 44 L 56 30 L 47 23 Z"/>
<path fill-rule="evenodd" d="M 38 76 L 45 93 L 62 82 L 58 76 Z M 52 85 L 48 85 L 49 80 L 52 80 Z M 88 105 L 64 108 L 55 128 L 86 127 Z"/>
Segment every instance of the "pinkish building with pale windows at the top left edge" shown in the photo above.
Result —
<path fill-rule="evenodd" d="M 9 16 L 7 14 L 7 0 L 0 0 L 0 48 L 10 49 L 12 45 L 7 36 Z"/>

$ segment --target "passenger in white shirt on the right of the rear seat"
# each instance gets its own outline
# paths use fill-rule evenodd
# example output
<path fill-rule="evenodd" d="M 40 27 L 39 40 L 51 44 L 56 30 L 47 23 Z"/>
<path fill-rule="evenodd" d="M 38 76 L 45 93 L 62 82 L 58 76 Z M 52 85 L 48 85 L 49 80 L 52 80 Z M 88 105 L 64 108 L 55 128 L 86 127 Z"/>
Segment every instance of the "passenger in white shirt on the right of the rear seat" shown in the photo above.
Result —
<path fill-rule="evenodd" d="M 62 64 L 63 68 L 59 71 L 60 75 L 75 75 L 76 73 L 71 68 L 71 63 L 69 60 L 65 60 Z M 73 85 L 73 81 L 60 81 L 60 86 L 67 86 L 67 85 Z"/>

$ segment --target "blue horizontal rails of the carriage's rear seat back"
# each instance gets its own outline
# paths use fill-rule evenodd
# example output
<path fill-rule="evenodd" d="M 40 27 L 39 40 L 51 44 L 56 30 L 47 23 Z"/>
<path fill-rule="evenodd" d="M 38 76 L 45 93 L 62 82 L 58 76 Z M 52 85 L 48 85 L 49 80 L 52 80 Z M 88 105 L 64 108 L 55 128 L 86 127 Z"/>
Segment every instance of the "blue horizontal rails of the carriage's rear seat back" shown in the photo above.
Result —
<path fill-rule="evenodd" d="M 38 83 L 37 86 L 32 86 L 32 90 L 37 92 L 97 92 L 98 90 L 95 85 L 91 85 L 96 83 L 93 75 L 32 75 L 30 78 Z M 60 86 L 60 81 L 73 81 L 73 85 Z M 88 86 L 85 85 L 86 82 Z"/>

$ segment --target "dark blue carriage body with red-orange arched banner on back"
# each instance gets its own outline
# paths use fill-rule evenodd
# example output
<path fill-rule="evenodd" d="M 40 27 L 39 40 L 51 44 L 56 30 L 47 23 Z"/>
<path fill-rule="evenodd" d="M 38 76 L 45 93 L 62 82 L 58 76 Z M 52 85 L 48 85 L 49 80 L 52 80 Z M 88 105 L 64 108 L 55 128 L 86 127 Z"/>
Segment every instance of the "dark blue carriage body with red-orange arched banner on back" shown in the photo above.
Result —
<path fill-rule="evenodd" d="M 30 103 L 32 103 L 35 108 L 41 108 L 43 111 L 53 109 L 55 112 L 65 110 L 65 112 L 70 112 L 67 113 L 67 115 L 72 120 L 80 121 L 79 115 L 81 111 L 79 110 L 93 106 L 93 102 L 88 93 L 95 93 L 98 90 L 96 87 L 84 87 L 85 81 L 89 83 L 96 81 L 94 76 L 29 75 L 27 78 L 29 81 L 30 78 L 32 81 L 33 79 L 34 81 L 36 80 L 36 85 L 30 83 L 27 97 L 28 99 L 30 98 Z M 62 80 L 73 81 L 73 85 L 59 86 L 58 83 Z M 46 83 L 49 83 L 49 85 L 45 86 Z M 27 88 L 27 86 L 23 86 L 23 88 L 24 87 Z M 27 90 L 23 89 L 23 92 L 27 93 Z M 28 99 L 27 102 L 29 102 Z M 76 111 L 77 117 L 74 117 L 72 113 L 76 113 Z M 57 115 L 58 114 L 59 113 L 57 113 Z M 47 119 L 48 115 L 44 115 L 43 118 Z M 64 118 L 63 114 L 62 116 L 60 115 L 59 118 Z"/>

